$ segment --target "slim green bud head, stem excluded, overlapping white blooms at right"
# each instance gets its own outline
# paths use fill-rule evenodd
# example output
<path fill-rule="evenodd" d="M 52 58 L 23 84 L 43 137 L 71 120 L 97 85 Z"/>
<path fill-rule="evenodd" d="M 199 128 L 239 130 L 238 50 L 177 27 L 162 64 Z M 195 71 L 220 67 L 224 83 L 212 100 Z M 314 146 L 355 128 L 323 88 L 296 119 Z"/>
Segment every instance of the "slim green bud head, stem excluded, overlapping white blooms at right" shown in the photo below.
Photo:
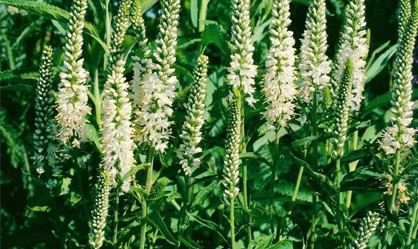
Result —
<path fill-rule="evenodd" d="M 339 83 L 337 99 L 335 101 L 335 118 L 333 125 L 334 156 L 344 155 L 344 143 L 347 139 L 348 119 L 350 117 L 350 101 L 352 98 L 353 63 L 348 59 Z"/>

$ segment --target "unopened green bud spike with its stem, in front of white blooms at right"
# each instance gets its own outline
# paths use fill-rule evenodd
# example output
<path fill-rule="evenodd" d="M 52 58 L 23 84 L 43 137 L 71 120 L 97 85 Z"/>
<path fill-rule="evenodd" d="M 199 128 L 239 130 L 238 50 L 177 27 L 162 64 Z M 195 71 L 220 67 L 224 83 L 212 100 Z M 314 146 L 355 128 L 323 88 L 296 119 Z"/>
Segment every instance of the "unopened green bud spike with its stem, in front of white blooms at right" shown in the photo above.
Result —
<path fill-rule="evenodd" d="M 335 118 L 332 127 L 333 143 L 336 164 L 336 182 L 337 182 L 337 206 L 335 207 L 335 218 L 337 221 L 338 229 L 341 229 L 340 218 L 340 163 L 341 158 L 344 155 L 344 144 L 347 140 L 348 120 L 350 118 L 350 101 L 352 98 L 352 84 L 353 84 L 353 64 L 351 59 L 346 61 L 344 66 L 343 75 L 338 85 L 337 99 L 335 101 Z"/>

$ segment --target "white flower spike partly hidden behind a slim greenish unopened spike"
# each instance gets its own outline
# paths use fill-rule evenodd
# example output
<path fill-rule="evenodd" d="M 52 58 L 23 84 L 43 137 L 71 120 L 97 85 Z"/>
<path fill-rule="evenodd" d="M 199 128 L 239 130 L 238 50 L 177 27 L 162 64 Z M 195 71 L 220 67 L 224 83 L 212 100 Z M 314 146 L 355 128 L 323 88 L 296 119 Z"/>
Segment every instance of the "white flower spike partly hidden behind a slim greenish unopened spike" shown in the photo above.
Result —
<path fill-rule="evenodd" d="M 353 100 L 350 104 L 353 111 L 359 111 L 363 97 L 364 67 L 369 49 L 366 45 L 366 17 L 364 0 L 351 0 L 345 10 L 345 23 L 341 44 L 337 54 L 338 69 L 334 81 L 339 82 L 347 59 L 353 62 Z"/>

